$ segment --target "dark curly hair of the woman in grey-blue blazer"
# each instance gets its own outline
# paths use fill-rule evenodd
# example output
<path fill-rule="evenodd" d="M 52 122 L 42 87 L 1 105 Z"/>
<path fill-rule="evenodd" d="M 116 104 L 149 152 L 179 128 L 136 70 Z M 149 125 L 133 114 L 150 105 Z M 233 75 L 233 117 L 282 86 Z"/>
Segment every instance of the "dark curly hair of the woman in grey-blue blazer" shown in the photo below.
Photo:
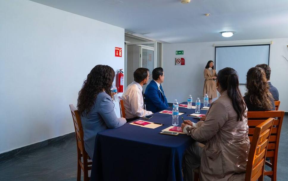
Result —
<path fill-rule="evenodd" d="M 83 86 L 78 93 L 78 112 L 88 117 L 97 95 L 103 90 L 111 95 L 111 87 L 115 78 L 114 70 L 108 65 L 96 65 L 87 75 Z"/>

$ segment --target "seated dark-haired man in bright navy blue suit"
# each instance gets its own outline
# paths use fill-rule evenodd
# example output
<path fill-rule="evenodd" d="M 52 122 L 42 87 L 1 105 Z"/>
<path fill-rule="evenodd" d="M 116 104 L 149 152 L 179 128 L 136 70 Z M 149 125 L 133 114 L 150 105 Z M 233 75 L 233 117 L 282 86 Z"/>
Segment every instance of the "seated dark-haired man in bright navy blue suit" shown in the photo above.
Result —
<path fill-rule="evenodd" d="M 162 67 L 155 68 L 152 71 L 153 80 L 150 81 L 145 90 L 146 110 L 153 113 L 167 109 L 168 103 L 162 89 L 161 83 L 164 82 L 164 71 Z"/>

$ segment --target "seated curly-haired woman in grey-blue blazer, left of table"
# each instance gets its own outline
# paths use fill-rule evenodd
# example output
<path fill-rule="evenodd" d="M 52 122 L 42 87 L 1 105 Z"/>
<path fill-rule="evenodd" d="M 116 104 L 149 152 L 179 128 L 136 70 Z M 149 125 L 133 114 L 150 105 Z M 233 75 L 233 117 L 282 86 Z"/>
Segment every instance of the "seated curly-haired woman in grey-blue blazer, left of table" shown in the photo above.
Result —
<path fill-rule="evenodd" d="M 84 131 L 85 150 L 91 159 L 97 133 L 126 123 L 125 118 L 118 118 L 114 112 L 111 99 L 114 77 L 115 72 L 110 66 L 96 65 L 79 91 L 77 108 Z"/>

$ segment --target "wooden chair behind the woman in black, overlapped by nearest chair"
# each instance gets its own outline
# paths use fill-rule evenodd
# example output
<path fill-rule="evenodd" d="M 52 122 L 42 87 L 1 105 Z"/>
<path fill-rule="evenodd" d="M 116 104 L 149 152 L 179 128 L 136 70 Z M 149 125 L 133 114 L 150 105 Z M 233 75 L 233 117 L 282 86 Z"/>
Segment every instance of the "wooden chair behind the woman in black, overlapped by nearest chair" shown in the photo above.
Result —
<path fill-rule="evenodd" d="M 276 181 L 277 173 L 277 159 L 279 139 L 281 133 L 281 126 L 284 118 L 284 111 L 248 111 L 248 126 L 250 142 L 252 143 L 253 133 L 255 132 L 255 126 L 263 123 L 268 117 L 274 117 L 273 128 L 268 143 L 267 158 L 270 158 L 270 162 L 265 161 L 265 164 L 271 168 L 271 171 L 264 170 L 264 175 L 271 178 L 272 181 Z"/>

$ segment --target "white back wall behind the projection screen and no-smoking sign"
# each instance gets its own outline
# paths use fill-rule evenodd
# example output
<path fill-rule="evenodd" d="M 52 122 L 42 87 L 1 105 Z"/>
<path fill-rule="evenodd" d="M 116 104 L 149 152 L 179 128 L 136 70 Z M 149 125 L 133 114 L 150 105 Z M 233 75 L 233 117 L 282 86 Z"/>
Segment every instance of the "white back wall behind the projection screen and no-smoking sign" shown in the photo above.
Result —
<path fill-rule="evenodd" d="M 209 60 L 215 61 L 213 44 L 257 43 L 271 40 L 273 44 L 270 46 L 270 80 L 279 91 L 280 110 L 288 112 L 288 96 L 286 95 L 288 90 L 288 62 L 281 56 L 284 55 L 288 59 L 288 38 L 163 44 L 163 68 L 165 72 L 163 88 L 168 102 L 172 103 L 174 99 L 178 99 L 178 102 L 186 101 L 189 94 L 192 94 L 194 102 L 197 97 L 203 102 L 203 71 Z M 184 55 L 175 55 L 176 50 L 184 50 Z M 185 66 L 174 65 L 177 57 L 185 58 Z M 243 95 L 246 92 L 245 86 L 240 86 L 240 90 Z"/>

